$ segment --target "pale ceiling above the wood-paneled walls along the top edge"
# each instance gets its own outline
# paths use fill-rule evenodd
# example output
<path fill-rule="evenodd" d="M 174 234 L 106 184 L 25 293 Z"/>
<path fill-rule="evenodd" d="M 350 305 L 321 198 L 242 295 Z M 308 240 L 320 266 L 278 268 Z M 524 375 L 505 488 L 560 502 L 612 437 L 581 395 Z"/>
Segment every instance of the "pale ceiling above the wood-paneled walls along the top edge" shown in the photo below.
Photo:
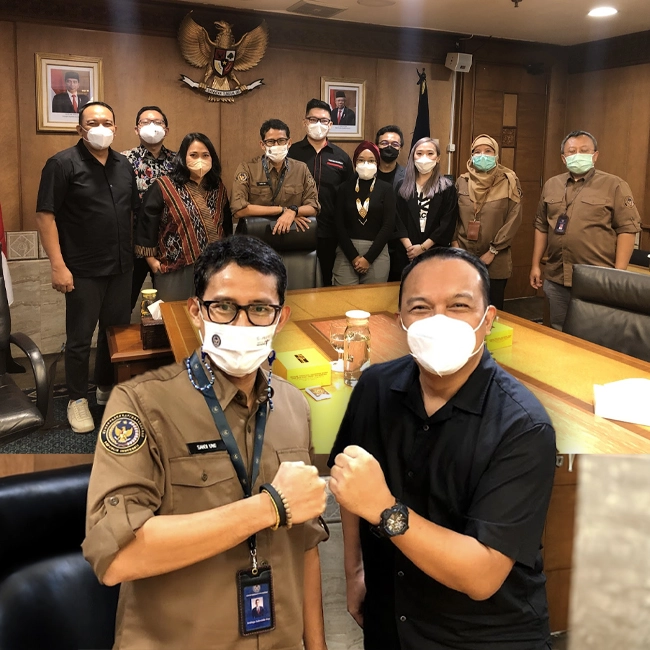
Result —
<path fill-rule="evenodd" d="M 196 0 L 184 0 L 195 3 Z M 308 0 L 342 7 L 334 20 L 415 27 L 556 45 L 575 45 L 650 30 L 650 0 L 394 0 L 367 6 L 357 0 Z M 381 0 L 361 0 L 372 4 Z M 202 4 L 288 14 L 296 0 L 202 0 Z M 618 14 L 590 18 L 594 7 L 612 6 Z M 288 14 L 296 15 L 296 14 Z M 323 18 L 322 20 L 327 20 Z"/>

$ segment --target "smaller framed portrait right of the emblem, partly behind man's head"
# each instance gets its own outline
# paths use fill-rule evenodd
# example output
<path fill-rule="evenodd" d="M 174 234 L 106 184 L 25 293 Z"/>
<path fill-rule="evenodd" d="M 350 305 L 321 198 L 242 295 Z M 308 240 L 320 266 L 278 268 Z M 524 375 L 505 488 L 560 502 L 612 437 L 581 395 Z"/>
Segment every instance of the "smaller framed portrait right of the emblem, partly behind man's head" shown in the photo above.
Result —
<path fill-rule="evenodd" d="M 321 99 L 332 108 L 331 140 L 363 140 L 365 81 L 321 77 Z"/>

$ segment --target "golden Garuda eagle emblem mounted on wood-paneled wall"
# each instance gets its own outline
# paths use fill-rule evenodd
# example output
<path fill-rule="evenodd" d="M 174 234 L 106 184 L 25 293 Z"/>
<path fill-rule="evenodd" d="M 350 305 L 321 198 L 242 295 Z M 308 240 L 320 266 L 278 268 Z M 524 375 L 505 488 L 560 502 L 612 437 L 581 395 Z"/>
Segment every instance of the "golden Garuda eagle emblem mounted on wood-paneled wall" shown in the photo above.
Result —
<path fill-rule="evenodd" d="M 212 41 L 208 32 L 192 20 L 192 12 L 183 18 L 178 29 L 181 54 L 190 65 L 205 71 L 201 82 L 184 74 L 181 81 L 204 92 L 211 102 L 234 102 L 235 97 L 264 84 L 263 79 L 242 84 L 235 71 L 250 70 L 262 60 L 269 42 L 269 29 L 262 22 L 235 43 L 232 25 L 221 20 L 214 24 L 218 31 L 216 40 Z"/>

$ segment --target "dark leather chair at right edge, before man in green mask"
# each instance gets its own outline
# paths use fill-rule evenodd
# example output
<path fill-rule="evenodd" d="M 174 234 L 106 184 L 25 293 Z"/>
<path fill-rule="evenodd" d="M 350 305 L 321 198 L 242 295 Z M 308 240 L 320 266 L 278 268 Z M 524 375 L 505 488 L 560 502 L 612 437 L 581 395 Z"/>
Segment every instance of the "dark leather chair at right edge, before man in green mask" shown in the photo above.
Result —
<path fill-rule="evenodd" d="M 563 331 L 650 361 L 650 275 L 577 264 Z"/>

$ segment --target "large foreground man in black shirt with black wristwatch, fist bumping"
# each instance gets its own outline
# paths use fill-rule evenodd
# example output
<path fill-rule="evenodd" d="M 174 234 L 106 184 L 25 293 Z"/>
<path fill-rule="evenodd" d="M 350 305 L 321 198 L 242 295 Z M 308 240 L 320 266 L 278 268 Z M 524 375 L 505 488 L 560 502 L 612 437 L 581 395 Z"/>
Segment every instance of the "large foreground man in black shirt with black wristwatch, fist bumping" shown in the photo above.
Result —
<path fill-rule="evenodd" d="M 330 456 L 367 649 L 551 647 L 540 541 L 555 433 L 483 347 L 489 283 L 460 249 L 407 267 L 412 356 L 363 373 Z"/>

